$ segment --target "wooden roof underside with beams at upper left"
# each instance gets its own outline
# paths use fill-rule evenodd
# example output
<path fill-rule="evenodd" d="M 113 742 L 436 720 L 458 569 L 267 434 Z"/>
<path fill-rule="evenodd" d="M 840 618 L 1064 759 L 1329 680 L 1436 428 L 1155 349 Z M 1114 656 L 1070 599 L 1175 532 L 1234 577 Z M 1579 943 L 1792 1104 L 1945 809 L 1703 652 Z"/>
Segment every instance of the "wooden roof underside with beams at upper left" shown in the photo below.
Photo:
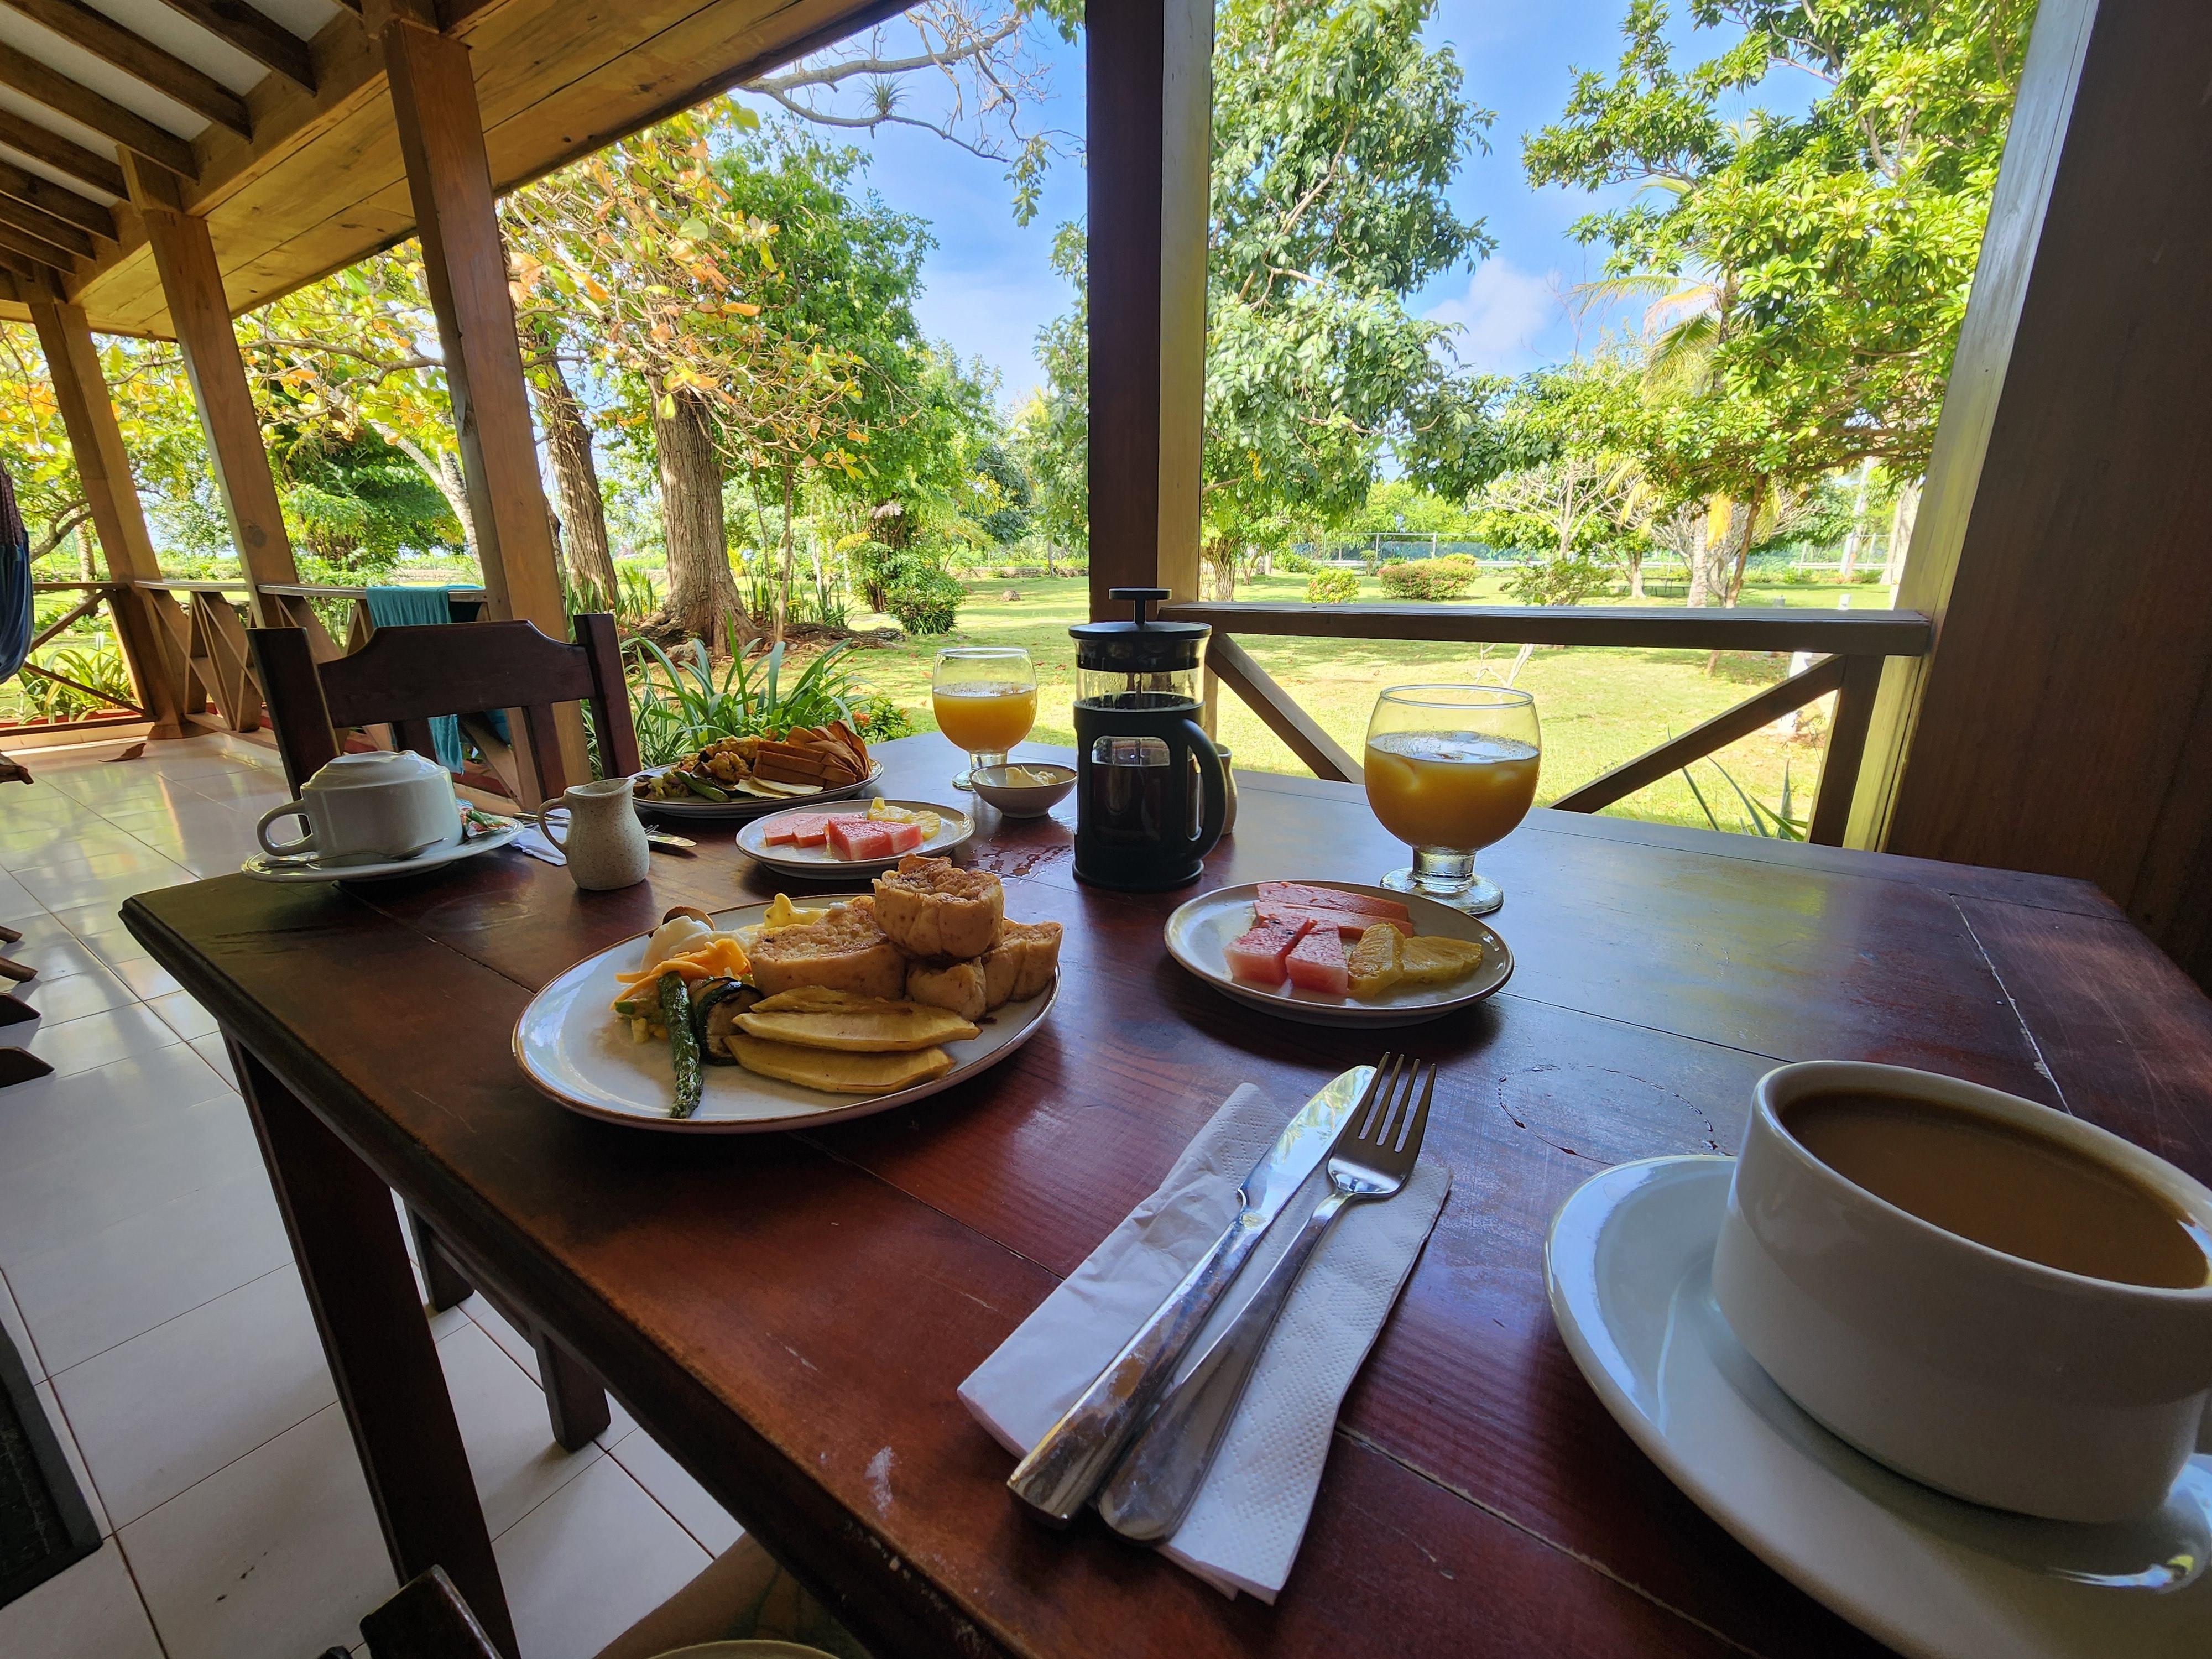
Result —
<path fill-rule="evenodd" d="M 511 190 L 898 9 L 445 0 L 440 18 L 469 44 L 491 179 Z M 179 170 L 232 314 L 414 234 L 352 2 L 0 0 L 0 276 L 60 281 L 104 334 L 168 336 L 117 148 Z M 4 294 L 0 319 L 27 319 Z"/>

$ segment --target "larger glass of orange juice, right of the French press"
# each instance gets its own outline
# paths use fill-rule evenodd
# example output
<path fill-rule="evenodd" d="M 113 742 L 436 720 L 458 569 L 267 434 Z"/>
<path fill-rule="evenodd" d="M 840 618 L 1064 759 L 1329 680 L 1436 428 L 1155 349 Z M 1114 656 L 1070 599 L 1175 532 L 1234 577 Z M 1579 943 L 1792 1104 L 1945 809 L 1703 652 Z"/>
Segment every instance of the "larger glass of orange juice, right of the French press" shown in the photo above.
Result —
<path fill-rule="evenodd" d="M 1544 737 L 1511 686 L 1391 686 L 1367 721 L 1367 805 L 1413 849 L 1383 885 L 1489 916 L 1506 896 L 1475 854 L 1528 816 Z"/>

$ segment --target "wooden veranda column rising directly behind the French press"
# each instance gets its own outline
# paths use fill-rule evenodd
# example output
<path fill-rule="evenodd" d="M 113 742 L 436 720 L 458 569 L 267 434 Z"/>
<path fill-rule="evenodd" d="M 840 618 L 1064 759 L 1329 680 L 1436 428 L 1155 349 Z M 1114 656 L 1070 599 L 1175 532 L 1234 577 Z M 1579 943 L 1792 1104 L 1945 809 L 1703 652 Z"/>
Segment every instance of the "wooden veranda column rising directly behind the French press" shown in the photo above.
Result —
<path fill-rule="evenodd" d="M 1091 615 L 1108 588 L 1199 597 L 1208 0 L 1091 0 Z"/>

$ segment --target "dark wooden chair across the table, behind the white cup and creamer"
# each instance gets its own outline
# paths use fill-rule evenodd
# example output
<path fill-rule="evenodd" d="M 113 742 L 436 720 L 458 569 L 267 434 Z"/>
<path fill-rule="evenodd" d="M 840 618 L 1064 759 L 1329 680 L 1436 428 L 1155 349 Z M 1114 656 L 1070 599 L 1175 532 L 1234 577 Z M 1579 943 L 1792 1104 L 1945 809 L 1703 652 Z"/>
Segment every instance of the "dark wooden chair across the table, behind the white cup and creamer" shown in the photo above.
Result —
<path fill-rule="evenodd" d="M 438 759 L 429 721 L 487 708 L 522 710 L 518 748 L 538 765 L 546 799 L 568 787 L 560 745 L 553 737 L 553 706 L 584 703 L 608 776 L 637 770 L 637 728 L 622 681 L 622 648 L 615 619 L 575 619 L 577 644 L 549 639 L 529 622 L 456 622 L 447 626 L 378 628 L 349 657 L 316 664 L 303 628 L 248 628 L 254 670 L 283 770 L 299 790 L 338 757 L 341 730 L 389 726 L 403 748 Z M 491 1281 L 414 1210 L 407 1212 L 416 1261 L 429 1287 L 429 1305 L 447 1310 L 482 1292 L 509 1325 L 538 1352 L 538 1376 L 546 1389 L 553 1438 L 577 1451 L 606 1429 L 606 1389 L 535 1321 L 522 1303 Z"/>

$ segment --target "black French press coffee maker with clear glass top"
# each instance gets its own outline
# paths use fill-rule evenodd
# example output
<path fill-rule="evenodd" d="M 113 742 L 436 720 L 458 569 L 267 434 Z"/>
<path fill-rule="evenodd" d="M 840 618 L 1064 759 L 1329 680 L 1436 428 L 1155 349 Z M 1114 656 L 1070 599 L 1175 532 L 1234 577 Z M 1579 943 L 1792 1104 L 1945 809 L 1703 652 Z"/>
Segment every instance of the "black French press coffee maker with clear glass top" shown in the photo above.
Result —
<path fill-rule="evenodd" d="M 1199 878 L 1221 841 L 1228 774 L 1199 726 L 1203 622 L 1159 622 L 1166 588 L 1113 588 L 1135 622 L 1075 635 L 1075 876 L 1133 894 Z"/>

